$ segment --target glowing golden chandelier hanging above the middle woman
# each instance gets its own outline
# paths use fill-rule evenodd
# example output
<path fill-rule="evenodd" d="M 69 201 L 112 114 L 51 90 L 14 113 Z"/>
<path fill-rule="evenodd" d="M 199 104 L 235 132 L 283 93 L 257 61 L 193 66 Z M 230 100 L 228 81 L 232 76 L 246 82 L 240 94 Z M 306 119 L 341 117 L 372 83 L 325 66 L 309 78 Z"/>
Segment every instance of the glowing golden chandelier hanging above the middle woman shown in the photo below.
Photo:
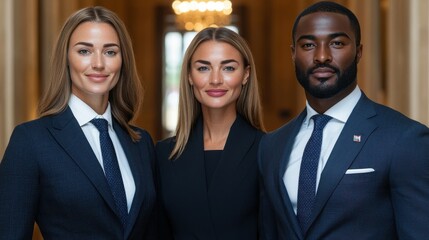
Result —
<path fill-rule="evenodd" d="M 225 26 L 231 21 L 232 4 L 229 0 L 176 0 L 172 7 L 177 26 L 187 31 Z"/>

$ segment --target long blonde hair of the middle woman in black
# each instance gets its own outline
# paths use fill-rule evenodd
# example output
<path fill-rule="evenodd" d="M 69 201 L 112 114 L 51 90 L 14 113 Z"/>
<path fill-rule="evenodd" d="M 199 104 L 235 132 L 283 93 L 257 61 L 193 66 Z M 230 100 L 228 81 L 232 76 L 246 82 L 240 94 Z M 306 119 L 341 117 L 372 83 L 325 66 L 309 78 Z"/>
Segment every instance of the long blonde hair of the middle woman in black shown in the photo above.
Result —
<path fill-rule="evenodd" d="M 185 52 L 180 74 L 179 119 L 176 127 L 175 145 L 170 159 L 178 158 L 184 151 L 192 127 L 201 114 L 201 104 L 194 96 L 189 84 L 191 59 L 198 46 L 205 41 L 225 42 L 237 49 L 243 57 L 244 66 L 250 67 L 247 83 L 243 86 L 237 100 L 237 112 L 256 129 L 265 131 L 262 122 L 262 108 L 259 98 L 259 86 L 252 53 L 246 41 L 236 32 L 224 28 L 205 28 L 194 37 Z"/>

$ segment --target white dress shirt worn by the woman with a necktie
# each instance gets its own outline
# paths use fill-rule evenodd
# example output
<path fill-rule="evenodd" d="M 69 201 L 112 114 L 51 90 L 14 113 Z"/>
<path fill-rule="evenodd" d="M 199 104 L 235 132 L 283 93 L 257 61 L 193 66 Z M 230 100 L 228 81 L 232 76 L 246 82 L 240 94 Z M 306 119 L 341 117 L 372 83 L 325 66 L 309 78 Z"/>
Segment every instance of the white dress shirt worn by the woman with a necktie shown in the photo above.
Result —
<path fill-rule="evenodd" d="M 101 147 L 99 140 L 100 132 L 90 121 L 94 118 L 104 118 L 109 123 L 109 135 L 112 139 L 113 146 L 115 147 L 116 156 L 118 158 L 119 169 L 121 170 L 122 181 L 124 182 L 125 195 L 127 197 L 127 206 L 129 212 L 136 191 L 136 185 L 134 183 L 134 178 L 133 174 L 131 173 L 130 165 L 128 164 L 127 156 L 125 155 L 124 149 L 119 142 L 118 136 L 113 130 L 110 103 L 108 104 L 106 112 L 103 113 L 103 115 L 98 115 L 90 106 L 88 106 L 85 102 L 76 97 L 74 94 L 71 94 L 68 105 L 80 127 L 82 128 L 82 131 L 85 134 L 89 145 L 91 145 L 91 148 L 94 151 L 94 154 L 97 157 L 98 162 L 100 163 L 103 171 L 103 157 L 101 155 Z"/>

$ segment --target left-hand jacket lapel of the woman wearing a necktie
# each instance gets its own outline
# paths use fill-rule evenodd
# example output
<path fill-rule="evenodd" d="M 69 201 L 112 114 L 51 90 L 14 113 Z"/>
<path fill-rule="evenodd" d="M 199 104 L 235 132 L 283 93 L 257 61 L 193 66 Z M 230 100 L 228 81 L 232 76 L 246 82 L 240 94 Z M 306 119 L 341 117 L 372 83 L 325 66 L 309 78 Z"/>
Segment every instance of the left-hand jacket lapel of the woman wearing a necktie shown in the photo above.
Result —
<path fill-rule="evenodd" d="M 103 169 L 70 108 L 67 107 L 64 112 L 52 117 L 52 128 L 49 128 L 49 131 L 85 173 L 110 208 L 116 212 L 115 202 Z"/>

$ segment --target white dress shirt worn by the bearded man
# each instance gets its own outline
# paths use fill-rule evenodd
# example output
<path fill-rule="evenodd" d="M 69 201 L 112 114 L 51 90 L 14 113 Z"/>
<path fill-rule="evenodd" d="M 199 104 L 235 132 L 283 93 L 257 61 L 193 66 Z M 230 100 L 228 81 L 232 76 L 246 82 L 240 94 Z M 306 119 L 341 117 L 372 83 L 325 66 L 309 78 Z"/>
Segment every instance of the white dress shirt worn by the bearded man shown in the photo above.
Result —
<path fill-rule="evenodd" d="M 332 119 L 323 129 L 322 148 L 320 152 L 319 165 L 317 167 L 316 189 L 319 186 L 320 176 L 322 174 L 323 168 L 325 167 L 326 162 L 331 155 L 332 149 L 334 148 L 335 143 L 337 142 L 337 139 L 340 136 L 345 123 L 347 122 L 347 119 L 359 101 L 361 94 L 362 93 L 359 87 L 356 86 L 356 88 L 347 97 L 342 99 L 324 113 L 325 115 L 331 116 Z M 304 153 L 305 145 L 310 139 L 314 127 L 314 122 L 310 121 L 310 118 L 313 115 L 318 114 L 313 108 L 311 108 L 308 102 L 306 103 L 306 106 L 307 116 L 302 123 L 298 135 L 295 137 L 295 142 L 289 157 L 286 172 L 283 175 L 283 182 L 286 186 L 295 214 L 297 212 L 298 181 L 302 155 Z"/>

